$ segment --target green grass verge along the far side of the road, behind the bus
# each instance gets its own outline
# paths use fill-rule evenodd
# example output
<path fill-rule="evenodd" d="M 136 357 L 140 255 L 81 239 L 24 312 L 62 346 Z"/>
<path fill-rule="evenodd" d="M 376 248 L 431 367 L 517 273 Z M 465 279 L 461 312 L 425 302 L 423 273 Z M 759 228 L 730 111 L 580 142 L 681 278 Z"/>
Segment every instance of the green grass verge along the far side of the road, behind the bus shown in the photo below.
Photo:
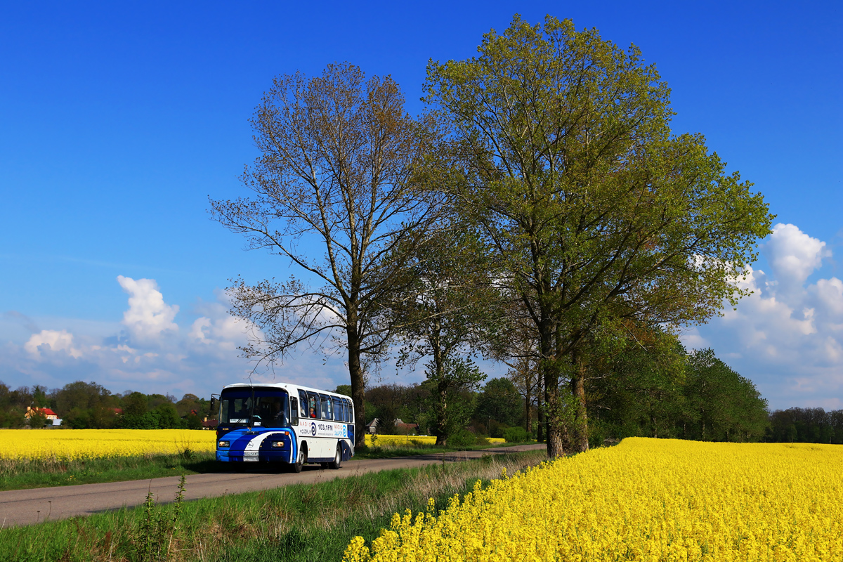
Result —
<path fill-rule="evenodd" d="M 357 451 L 356 460 L 426 455 L 432 452 L 481 450 L 508 447 L 518 443 L 481 444 L 475 447 L 437 447 L 411 443 L 365 447 Z M 65 460 L 42 458 L 18 460 L 0 458 L 0 490 L 27 490 L 72 484 L 99 484 L 146 480 L 182 474 L 219 474 L 234 472 L 228 463 L 217 463 L 213 452 L 194 452 L 185 448 L 174 455 L 140 455 L 133 457 L 96 457 Z"/>

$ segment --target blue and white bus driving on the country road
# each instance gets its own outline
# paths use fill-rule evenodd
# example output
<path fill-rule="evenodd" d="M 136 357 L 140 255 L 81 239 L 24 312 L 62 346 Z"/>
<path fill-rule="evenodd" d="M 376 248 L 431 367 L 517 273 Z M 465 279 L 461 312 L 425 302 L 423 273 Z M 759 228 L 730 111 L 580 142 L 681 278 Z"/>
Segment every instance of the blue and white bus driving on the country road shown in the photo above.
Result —
<path fill-rule="evenodd" d="M 229 384 L 219 395 L 217 461 L 340 468 L 354 455 L 354 404 L 290 383 Z"/>

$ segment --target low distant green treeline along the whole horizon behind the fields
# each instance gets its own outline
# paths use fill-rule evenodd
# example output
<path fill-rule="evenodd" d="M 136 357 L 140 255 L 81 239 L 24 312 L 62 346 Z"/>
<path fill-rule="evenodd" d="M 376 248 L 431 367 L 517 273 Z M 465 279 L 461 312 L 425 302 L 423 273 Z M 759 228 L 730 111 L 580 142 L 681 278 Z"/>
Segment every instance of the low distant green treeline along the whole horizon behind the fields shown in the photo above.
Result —
<path fill-rule="evenodd" d="M 588 440 L 592 447 L 628 436 L 721 442 L 843 443 L 843 409 L 791 408 L 770 413 L 748 378 L 710 349 L 691 353 L 679 345 L 640 347 L 607 361 L 602 376 L 588 379 Z M 523 367 L 523 366 L 522 366 Z M 507 377 L 465 385 L 450 397 L 454 444 L 482 436 L 524 441 L 545 437 L 540 377 L 529 366 Z M 348 394 L 341 385 L 336 392 Z M 379 433 L 435 431 L 436 386 L 382 384 L 366 389 L 367 420 L 378 418 Z M 77 381 L 47 391 L 35 385 L 15 390 L 0 383 L 0 427 L 43 426 L 27 407 L 50 408 L 69 428 L 200 428 L 215 417 L 207 399 L 185 394 L 127 391 L 112 394 L 96 383 Z M 564 412 L 563 412 L 564 415 Z"/>

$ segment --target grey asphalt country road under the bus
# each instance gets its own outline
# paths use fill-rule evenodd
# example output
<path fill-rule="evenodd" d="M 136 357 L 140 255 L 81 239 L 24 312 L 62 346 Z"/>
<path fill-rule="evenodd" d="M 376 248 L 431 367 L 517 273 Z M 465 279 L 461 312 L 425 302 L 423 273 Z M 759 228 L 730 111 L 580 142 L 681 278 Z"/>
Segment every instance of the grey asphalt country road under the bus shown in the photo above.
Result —
<path fill-rule="evenodd" d="M 533 451 L 543 448 L 545 445 L 536 444 L 497 447 L 481 451 L 432 453 L 417 457 L 352 460 L 342 463 L 342 468 L 339 470 L 322 469 L 314 464 L 305 465 L 301 474 L 278 473 L 271 469 L 271 465 L 269 467 L 255 466 L 250 463 L 243 472 L 189 475 L 185 486 L 185 500 L 267 490 L 287 484 L 316 484 L 355 474 L 442 463 L 443 459 L 444 462 L 457 462 L 469 458 L 481 458 L 490 453 Z M 150 480 L 0 492 L 0 522 L 2 522 L 0 528 L 31 525 L 46 519 L 87 516 L 121 507 L 139 506 L 147 499 L 149 491 L 155 495 L 156 502 L 169 503 L 175 498 L 179 479 L 178 476 L 170 476 Z"/>

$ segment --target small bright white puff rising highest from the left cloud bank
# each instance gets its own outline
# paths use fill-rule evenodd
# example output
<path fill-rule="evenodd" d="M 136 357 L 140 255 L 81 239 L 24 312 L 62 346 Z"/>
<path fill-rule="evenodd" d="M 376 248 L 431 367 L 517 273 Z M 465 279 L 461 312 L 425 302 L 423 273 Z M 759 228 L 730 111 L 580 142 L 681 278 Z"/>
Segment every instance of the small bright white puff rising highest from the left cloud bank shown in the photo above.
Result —
<path fill-rule="evenodd" d="M 117 282 L 129 293 L 129 309 L 123 313 L 123 324 L 129 333 L 139 340 L 153 340 L 162 332 L 178 331 L 173 322 L 178 305 L 170 306 L 164 302 L 164 295 L 158 291 L 154 279 L 138 279 L 117 276 Z"/>

